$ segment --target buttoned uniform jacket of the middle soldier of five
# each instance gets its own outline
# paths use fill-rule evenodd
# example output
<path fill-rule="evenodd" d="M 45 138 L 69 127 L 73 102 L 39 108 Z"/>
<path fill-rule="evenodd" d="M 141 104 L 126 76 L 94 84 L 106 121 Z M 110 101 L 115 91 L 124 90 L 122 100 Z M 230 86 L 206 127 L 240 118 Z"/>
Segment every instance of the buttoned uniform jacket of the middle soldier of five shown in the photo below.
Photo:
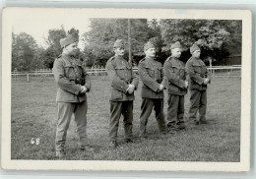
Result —
<path fill-rule="evenodd" d="M 163 98 L 160 84 L 164 86 L 163 70 L 160 62 L 146 57 L 139 63 L 139 75 L 142 80 L 143 98 Z"/>

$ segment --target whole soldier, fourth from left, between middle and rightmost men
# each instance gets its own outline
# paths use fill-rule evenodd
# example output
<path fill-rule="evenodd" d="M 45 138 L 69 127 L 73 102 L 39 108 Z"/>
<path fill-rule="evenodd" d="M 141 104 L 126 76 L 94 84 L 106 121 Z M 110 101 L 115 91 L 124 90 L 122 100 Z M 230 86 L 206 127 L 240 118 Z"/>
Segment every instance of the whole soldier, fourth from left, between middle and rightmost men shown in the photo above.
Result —
<path fill-rule="evenodd" d="M 184 95 L 187 93 L 185 65 L 178 58 L 181 55 L 179 41 L 171 44 L 171 56 L 163 65 L 164 76 L 168 82 L 167 129 L 169 133 L 185 129 L 184 124 Z"/>

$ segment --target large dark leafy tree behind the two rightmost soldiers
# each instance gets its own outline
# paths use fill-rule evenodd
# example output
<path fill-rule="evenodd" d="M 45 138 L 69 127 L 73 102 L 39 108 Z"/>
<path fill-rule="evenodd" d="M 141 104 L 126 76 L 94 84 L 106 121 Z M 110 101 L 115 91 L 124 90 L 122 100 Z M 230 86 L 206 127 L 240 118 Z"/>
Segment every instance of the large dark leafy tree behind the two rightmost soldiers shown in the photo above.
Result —
<path fill-rule="evenodd" d="M 211 56 L 220 62 L 229 55 L 233 44 L 240 46 L 241 42 L 241 25 L 238 21 L 160 20 L 160 31 L 165 43 L 163 51 L 169 50 L 169 45 L 178 40 L 186 52 L 181 56 L 184 61 L 189 58 L 189 47 L 193 43 L 203 49 L 201 58 Z"/>

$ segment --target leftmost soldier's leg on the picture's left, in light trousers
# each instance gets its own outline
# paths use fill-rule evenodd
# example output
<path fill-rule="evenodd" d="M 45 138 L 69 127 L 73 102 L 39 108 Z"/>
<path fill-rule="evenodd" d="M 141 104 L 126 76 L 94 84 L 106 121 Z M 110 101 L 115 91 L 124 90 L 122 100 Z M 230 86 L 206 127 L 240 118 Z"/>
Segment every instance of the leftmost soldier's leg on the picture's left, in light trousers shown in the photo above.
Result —
<path fill-rule="evenodd" d="M 75 105 L 73 103 L 58 102 L 58 124 L 55 138 L 56 151 L 64 150 L 67 130 L 74 108 Z"/>

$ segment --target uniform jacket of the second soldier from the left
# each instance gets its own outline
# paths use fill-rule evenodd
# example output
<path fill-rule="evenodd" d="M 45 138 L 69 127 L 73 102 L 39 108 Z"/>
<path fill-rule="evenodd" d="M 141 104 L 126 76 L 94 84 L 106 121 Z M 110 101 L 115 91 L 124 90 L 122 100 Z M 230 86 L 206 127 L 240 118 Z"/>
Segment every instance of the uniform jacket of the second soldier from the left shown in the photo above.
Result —
<path fill-rule="evenodd" d="M 106 62 L 106 71 L 111 82 L 111 101 L 134 100 L 134 92 L 128 93 L 128 85 L 138 88 L 139 78 L 132 66 L 122 57 L 113 56 Z"/>

